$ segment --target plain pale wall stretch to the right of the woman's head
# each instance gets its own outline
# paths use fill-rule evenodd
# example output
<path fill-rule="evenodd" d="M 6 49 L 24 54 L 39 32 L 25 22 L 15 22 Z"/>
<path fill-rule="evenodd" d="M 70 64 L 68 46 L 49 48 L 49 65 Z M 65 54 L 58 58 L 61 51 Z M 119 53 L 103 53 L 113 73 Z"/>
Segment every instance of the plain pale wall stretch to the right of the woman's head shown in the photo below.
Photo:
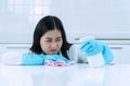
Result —
<path fill-rule="evenodd" d="M 69 35 L 130 39 L 129 0 L 54 0 L 52 14 L 60 16 Z"/>

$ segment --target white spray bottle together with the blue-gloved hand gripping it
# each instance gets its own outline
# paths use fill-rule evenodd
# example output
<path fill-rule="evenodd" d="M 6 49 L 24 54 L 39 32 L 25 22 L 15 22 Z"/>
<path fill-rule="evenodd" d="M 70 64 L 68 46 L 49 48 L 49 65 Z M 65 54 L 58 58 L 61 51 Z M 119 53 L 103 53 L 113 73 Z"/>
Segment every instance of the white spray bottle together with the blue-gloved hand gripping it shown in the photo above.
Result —
<path fill-rule="evenodd" d="M 105 63 L 102 55 L 103 46 L 94 37 L 84 37 L 79 41 L 82 42 L 80 49 L 87 55 L 90 67 L 101 67 Z"/>

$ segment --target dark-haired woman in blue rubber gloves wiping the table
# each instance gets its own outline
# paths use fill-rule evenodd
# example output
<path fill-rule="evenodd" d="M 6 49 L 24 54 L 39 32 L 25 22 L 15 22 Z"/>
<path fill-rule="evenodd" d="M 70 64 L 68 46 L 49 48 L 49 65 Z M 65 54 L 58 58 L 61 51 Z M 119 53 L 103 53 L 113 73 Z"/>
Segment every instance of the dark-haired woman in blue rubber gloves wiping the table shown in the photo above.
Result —
<path fill-rule="evenodd" d="M 114 56 L 110 48 L 95 39 L 87 40 L 78 45 L 67 42 L 65 30 L 62 22 L 56 16 L 46 16 L 39 20 L 34 32 L 34 42 L 30 53 L 6 53 L 2 59 L 10 55 L 10 62 L 15 64 L 49 64 L 49 66 L 67 66 L 70 61 L 88 62 L 87 57 L 102 53 L 105 63 L 110 63 Z M 17 56 L 18 57 L 17 57 Z"/>

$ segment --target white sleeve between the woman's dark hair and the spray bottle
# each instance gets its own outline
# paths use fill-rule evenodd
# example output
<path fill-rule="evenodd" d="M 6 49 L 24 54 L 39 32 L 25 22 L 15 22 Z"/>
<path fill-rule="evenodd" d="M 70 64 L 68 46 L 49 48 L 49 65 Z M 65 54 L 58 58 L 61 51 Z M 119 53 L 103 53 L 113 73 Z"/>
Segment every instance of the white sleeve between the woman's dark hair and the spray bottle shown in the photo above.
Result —
<path fill-rule="evenodd" d="M 68 51 L 69 59 L 78 63 L 88 63 L 87 55 L 79 49 L 79 44 L 74 44 Z"/>

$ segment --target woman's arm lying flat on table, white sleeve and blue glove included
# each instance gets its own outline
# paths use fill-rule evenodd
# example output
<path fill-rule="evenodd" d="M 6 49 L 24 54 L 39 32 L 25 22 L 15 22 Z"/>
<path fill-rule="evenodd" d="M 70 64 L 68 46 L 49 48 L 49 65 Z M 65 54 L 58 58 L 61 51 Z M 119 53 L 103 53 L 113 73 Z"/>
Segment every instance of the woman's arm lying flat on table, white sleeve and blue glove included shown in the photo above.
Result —
<path fill-rule="evenodd" d="M 8 52 L 1 57 L 1 63 L 3 64 L 22 64 L 22 66 L 41 66 L 54 63 L 52 66 L 70 66 L 68 59 L 61 55 L 42 55 L 35 53 L 20 53 L 20 52 Z"/>

